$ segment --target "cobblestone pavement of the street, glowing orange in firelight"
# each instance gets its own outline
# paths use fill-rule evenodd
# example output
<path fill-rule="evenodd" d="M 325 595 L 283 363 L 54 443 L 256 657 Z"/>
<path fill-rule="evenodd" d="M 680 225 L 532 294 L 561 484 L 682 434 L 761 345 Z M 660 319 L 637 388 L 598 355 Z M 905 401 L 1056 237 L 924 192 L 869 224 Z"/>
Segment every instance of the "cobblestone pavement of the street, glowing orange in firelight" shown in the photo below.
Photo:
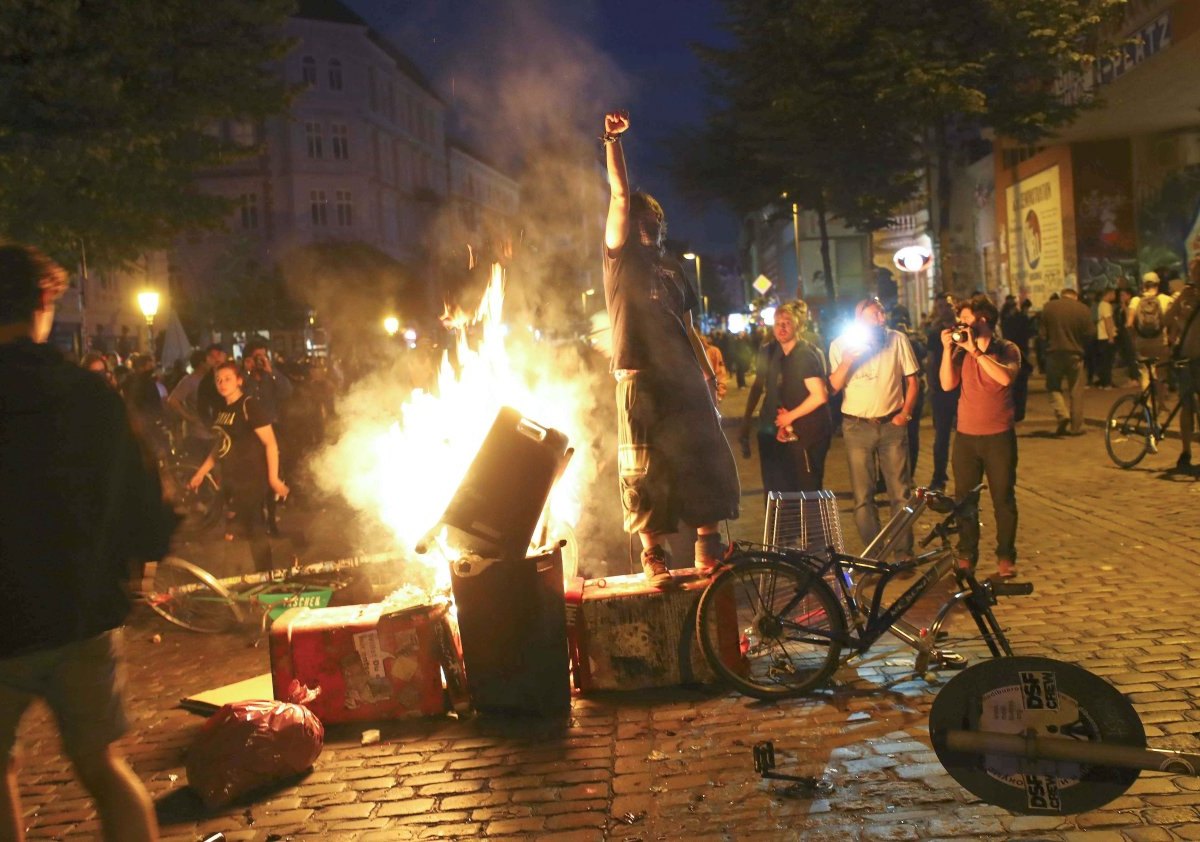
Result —
<path fill-rule="evenodd" d="M 1069 439 L 1049 437 L 1045 398 L 1031 396 L 1020 431 L 1019 548 L 1022 578 L 1037 593 L 1006 600 L 998 614 L 1018 654 L 1103 675 L 1134 703 L 1152 746 L 1196 751 L 1200 483 L 1164 479 L 1174 443 L 1135 470 L 1111 465 L 1097 423 L 1115 395 L 1088 392 L 1092 427 Z M 727 401 L 736 408 L 744 396 Z M 928 439 L 923 451 L 920 480 Z M 736 531 L 757 537 L 756 468 L 740 464 L 746 512 Z M 828 485 L 848 487 L 840 441 Z M 994 533 L 983 507 L 986 542 Z M 950 632 L 962 629 L 960 621 Z M 130 643 L 133 727 L 122 746 L 170 840 L 216 831 L 229 840 L 1200 840 L 1195 777 L 1147 772 L 1103 808 L 1067 818 L 979 802 L 930 748 L 929 708 L 944 678 L 913 679 L 911 655 L 890 636 L 830 691 L 800 700 L 758 703 L 720 688 L 589 696 L 575 700 L 566 721 L 388 722 L 383 741 L 370 746 L 360 745 L 358 727 L 330 727 L 310 775 L 210 814 L 182 769 L 203 720 L 175 704 L 264 672 L 265 646 L 254 646 L 250 632 L 176 630 L 144 609 Z M 30 837 L 96 836 L 95 811 L 44 710 L 26 716 L 23 738 Z M 750 747 L 766 739 L 781 771 L 821 776 L 832 788 L 812 795 L 758 780 Z"/>

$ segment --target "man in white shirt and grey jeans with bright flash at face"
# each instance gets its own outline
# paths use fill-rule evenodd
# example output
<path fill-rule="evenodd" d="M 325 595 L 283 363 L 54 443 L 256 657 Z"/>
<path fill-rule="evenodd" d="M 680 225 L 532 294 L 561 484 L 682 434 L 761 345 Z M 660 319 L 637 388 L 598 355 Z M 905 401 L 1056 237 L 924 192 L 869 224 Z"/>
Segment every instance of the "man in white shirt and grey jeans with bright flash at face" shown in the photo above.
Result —
<path fill-rule="evenodd" d="M 829 385 L 845 390 L 842 438 L 854 492 L 854 524 L 864 545 L 880 531 L 875 487 L 882 471 L 892 512 L 908 499 L 908 421 L 917 403 L 920 366 L 908 337 L 887 327 L 877 299 L 859 301 L 853 326 L 829 345 Z M 912 557 L 912 533 L 895 546 L 896 558 Z"/>

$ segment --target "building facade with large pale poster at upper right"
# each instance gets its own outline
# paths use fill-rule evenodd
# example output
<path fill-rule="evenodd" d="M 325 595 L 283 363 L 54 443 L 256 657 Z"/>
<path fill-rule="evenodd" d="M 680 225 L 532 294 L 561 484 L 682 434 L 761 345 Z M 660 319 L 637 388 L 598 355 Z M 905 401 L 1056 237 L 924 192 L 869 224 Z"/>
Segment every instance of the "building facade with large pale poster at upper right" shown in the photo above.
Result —
<path fill-rule="evenodd" d="M 1100 107 L 1036 148 L 997 142 L 998 277 L 1036 306 L 1183 273 L 1200 251 L 1200 0 L 1135 0 L 1109 41 L 1116 55 L 1060 80 Z"/>

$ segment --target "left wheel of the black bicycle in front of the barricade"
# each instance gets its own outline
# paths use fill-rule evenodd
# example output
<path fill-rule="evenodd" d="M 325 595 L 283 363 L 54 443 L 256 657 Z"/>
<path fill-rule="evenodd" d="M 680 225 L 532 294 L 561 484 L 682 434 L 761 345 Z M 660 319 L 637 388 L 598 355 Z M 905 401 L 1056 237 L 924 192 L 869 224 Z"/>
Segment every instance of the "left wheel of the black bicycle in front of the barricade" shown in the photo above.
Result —
<path fill-rule="evenodd" d="M 846 618 L 815 573 L 748 557 L 719 572 L 696 609 L 713 670 L 746 696 L 779 699 L 821 686 L 838 668 Z"/>

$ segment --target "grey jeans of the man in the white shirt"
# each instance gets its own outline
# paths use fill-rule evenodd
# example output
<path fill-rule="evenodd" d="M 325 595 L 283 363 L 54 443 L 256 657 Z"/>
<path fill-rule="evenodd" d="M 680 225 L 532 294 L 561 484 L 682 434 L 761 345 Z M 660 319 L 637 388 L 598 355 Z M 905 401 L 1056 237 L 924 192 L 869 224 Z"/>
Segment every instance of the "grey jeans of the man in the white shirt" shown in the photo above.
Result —
<path fill-rule="evenodd" d="M 863 543 L 870 543 L 880 534 L 880 512 L 875 506 L 878 471 L 883 473 L 893 515 L 908 500 L 908 428 L 890 421 L 871 423 L 848 416 L 842 417 L 841 428 L 850 462 L 850 485 L 854 492 L 854 525 Z M 898 558 L 912 555 L 912 530 L 900 537 L 895 551 Z"/>

